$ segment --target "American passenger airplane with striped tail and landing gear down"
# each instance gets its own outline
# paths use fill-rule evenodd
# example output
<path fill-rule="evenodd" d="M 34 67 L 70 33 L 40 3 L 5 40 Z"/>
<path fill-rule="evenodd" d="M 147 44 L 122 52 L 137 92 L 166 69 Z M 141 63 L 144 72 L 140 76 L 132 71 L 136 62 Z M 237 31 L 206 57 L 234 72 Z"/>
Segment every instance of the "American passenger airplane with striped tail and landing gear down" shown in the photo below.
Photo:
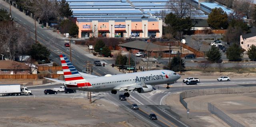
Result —
<path fill-rule="evenodd" d="M 60 55 L 60 60 L 65 81 L 46 77 L 45 79 L 62 83 L 65 87 L 80 91 L 111 91 L 112 94 L 116 94 L 117 91 L 126 91 L 124 96 L 129 97 L 129 93 L 132 91 L 138 91 L 138 93 L 151 92 L 153 90 L 152 85 L 167 84 L 166 88 L 170 89 L 168 85 L 180 79 L 180 75 L 170 70 L 143 71 L 118 75 L 107 74 L 98 77 L 78 72 L 64 54 Z"/>

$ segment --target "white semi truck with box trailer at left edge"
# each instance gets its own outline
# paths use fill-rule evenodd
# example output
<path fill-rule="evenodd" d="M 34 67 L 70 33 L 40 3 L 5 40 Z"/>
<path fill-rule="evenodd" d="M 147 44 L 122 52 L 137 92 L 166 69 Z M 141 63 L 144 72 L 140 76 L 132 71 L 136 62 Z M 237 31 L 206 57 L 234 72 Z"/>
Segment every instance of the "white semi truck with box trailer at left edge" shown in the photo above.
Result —
<path fill-rule="evenodd" d="M 32 95 L 31 90 L 27 87 L 20 87 L 20 84 L 0 84 L 1 95 Z"/>

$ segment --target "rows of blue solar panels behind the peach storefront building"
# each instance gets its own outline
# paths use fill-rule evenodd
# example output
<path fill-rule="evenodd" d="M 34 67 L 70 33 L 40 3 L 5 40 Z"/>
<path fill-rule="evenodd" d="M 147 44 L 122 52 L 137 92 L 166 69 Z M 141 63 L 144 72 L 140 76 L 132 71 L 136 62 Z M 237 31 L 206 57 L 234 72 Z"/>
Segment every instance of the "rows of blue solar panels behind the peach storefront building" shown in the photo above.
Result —
<path fill-rule="evenodd" d="M 66 0 L 76 18 L 164 18 L 163 11 L 169 0 Z M 192 8 L 195 10 L 194 8 Z M 191 17 L 207 18 L 204 12 L 196 10 Z"/>

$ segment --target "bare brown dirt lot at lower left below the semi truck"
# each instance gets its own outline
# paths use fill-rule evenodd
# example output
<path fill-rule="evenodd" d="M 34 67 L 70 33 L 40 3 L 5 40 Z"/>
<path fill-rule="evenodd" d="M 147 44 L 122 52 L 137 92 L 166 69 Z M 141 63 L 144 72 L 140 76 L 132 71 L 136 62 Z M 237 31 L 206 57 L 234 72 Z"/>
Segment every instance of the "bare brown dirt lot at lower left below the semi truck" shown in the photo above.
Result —
<path fill-rule="evenodd" d="M 87 99 L 1 97 L 0 101 L 1 127 L 149 127 L 121 107 L 100 100 L 89 104 Z"/>

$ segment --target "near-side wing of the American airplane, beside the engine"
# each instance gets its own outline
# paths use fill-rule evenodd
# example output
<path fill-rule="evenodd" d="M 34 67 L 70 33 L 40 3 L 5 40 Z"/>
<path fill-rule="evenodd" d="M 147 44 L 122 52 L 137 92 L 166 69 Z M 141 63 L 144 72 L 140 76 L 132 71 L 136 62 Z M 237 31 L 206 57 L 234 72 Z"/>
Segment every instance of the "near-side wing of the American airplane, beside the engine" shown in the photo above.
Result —
<path fill-rule="evenodd" d="M 142 88 L 142 84 L 139 83 L 130 83 L 130 84 L 123 84 L 123 85 L 118 85 L 114 87 L 113 90 L 119 90 L 119 91 L 134 91 L 137 88 Z"/>

